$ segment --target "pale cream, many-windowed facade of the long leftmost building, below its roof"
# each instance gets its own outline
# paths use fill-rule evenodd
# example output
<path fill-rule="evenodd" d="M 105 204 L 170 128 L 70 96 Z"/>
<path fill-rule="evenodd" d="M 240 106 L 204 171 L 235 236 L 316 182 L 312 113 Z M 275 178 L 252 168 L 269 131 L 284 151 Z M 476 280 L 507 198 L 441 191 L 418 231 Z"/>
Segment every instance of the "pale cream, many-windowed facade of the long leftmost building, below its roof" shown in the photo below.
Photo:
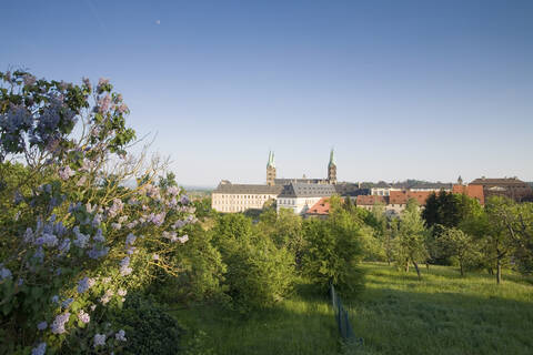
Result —
<path fill-rule="evenodd" d="M 213 193 L 211 207 L 218 212 L 244 212 L 252 209 L 262 209 L 269 200 L 275 200 L 275 194 L 231 194 Z"/>

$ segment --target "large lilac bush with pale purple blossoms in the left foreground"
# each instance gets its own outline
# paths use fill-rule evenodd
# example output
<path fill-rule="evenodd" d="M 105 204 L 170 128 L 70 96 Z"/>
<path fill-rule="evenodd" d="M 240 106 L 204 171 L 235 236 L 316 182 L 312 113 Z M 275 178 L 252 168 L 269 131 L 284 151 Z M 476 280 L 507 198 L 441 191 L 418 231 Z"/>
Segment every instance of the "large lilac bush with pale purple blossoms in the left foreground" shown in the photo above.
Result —
<path fill-rule="evenodd" d="M 0 72 L 0 176 L 24 162 L 13 182 L 0 181 L 9 206 L 0 216 L 0 312 L 12 346 L 0 353 L 44 354 L 66 342 L 120 352 L 125 333 L 102 333 L 105 308 L 157 273 L 180 273 L 172 255 L 189 240 L 194 209 L 182 189 L 158 183 L 164 162 L 128 153 L 129 109 L 109 80 Z"/>

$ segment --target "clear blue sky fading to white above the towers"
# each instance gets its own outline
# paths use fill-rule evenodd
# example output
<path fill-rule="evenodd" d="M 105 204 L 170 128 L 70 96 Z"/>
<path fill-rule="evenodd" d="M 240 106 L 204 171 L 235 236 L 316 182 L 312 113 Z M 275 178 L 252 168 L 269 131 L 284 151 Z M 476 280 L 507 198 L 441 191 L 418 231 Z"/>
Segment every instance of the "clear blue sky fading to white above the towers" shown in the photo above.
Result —
<path fill-rule="evenodd" d="M 181 183 L 533 180 L 533 1 L 2 1 L 0 70 L 111 79 Z"/>

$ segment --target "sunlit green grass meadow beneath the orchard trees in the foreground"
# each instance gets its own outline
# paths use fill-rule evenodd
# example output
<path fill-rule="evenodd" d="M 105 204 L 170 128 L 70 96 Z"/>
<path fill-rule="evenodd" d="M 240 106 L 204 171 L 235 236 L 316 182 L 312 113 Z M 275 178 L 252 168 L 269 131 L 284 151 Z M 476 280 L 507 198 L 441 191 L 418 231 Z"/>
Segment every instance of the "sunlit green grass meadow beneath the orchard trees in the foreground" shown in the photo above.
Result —
<path fill-rule="evenodd" d="M 345 300 L 364 345 L 339 342 L 329 298 L 303 281 L 295 294 L 272 310 L 245 317 L 215 306 L 175 311 L 190 329 L 201 329 L 212 354 L 533 354 L 533 283 L 452 267 L 416 274 L 369 263 L 365 291 Z M 190 332 L 192 336 L 194 332 Z"/>

